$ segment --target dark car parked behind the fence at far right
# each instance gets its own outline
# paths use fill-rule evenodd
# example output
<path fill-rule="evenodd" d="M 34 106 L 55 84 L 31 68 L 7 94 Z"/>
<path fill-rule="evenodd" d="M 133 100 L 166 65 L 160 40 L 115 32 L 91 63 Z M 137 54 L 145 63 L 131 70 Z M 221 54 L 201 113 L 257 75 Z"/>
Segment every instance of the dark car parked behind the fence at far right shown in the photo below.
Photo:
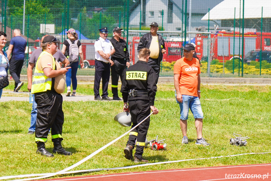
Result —
<path fill-rule="evenodd" d="M 271 63 L 271 51 L 262 50 L 262 60 Z M 252 50 L 245 55 L 244 63 L 249 64 L 251 61 L 260 61 L 260 50 Z"/>

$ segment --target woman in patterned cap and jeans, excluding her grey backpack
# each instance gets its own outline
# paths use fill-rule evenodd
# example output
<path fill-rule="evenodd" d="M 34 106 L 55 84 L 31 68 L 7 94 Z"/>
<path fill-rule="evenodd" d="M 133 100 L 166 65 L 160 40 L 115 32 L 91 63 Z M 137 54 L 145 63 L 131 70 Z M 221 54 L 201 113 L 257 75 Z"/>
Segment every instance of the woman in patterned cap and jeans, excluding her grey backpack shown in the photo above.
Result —
<path fill-rule="evenodd" d="M 68 31 L 66 31 L 68 39 L 63 42 L 62 45 L 62 54 L 64 54 L 67 58 L 69 57 L 69 50 L 70 46 L 72 44 L 76 44 L 79 48 L 79 56 L 80 56 L 80 65 L 81 68 L 84 68 L 84 57 L 83 57 L 83 51 L 82 51 L 82 45 L 81 42 L 78 40 L 78 34 L 75 32 L 73 28 L 70 28 Z M 72 62 L 69 59 L 70 63 Z M 67 85 L 67 94 L 66 96 L 70 96 L 71 94 L 71 83 L 73 85 L 73 93 L 72 96 L 76 96 L 76 88 L 77 88 L 77 78 L 76 73 L 79 65 L 79 60 L 73 62 L 70 67 L 71 69 L 68 69 L 68 72 L 66 72 L 66 85 Z"/>

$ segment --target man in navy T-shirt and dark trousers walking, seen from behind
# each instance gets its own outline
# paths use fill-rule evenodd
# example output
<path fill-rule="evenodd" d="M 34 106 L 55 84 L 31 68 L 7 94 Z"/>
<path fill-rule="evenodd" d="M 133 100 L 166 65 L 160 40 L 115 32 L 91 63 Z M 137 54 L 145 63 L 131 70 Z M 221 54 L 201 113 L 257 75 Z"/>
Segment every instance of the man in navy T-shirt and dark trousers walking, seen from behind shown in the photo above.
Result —
<path fill-rule="evenodd" d="M 20 81 L 20 73 L 24 64 L 24 52 L 26 49 L 26 40 L 21 37 L 20 29 L 14 29 L 13 38 L 10 40 L 8 47 L 8 59 L 9 59 L 9 73 L 14 79 L 14 92 L 18 92 L 24 85 L 24 82 Z"/>

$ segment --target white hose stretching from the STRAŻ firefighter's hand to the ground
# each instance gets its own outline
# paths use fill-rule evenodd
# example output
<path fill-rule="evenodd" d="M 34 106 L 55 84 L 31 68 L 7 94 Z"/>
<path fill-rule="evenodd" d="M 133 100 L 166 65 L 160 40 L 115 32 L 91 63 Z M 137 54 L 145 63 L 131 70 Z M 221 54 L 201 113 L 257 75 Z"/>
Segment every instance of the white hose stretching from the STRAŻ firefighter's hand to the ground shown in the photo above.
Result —
<path fill-rule="evenodd" d="M 149 114 L 152 115 L 153 112 L 151 112 Z M 103 147 L 101 147 L 99 150 L 96 150 L 95 152 L 91 153 L 89 156 L 85 157 L 84 159 L 78 161 L 77 163 L 73 164 L 72 166 L 65 168 L 61 171 L 58 171 L 56 173 L 50 173 L 48 175 L 45 176 L 41 176 L 41 177 L 35 177 L 35 178 L 26 178 L 26 179 L 18 179 L 18 180 L 14 180 L 14 181 L 27 181 L 27 180 L 36 180 L 36 179 L 41 179 L 41 178 L 48 178 L 48 177 L 52 177 L 58 174 L 62 174 L 64 172 L 67 172 L 68 170 L 73 169 L 74 167 L 77 167 L 79 165 L 81 165 L 82 163 L 84 163 L 85 161 L 89 160 L 91 157 L 95 156 L 96 154 L 98 154 L 100 151 L 106 149 L 108 146 L 110 146 L 111 144 L 115 143 L 117 140 L 121 139 L 122 137 L 124 137 L 126 134 L 128 134 L 129 132 L 131 132 L 134 128 L 138 127 L 138 125 L 140 125 L 142 122 L 144 122 L 149 116 L 147 116 L 144 120 L 142 120 L 141 122 L 139 122 L 135 127 L 133 127 L 132 129 L 130 129 L 129 131 L 127 131 L 126 133 L 122 134 L 121 136 L 119 136 L 118 138 L 114 139 L 113 141 L 111 141 L 110 143 L 104 145 Z"/>

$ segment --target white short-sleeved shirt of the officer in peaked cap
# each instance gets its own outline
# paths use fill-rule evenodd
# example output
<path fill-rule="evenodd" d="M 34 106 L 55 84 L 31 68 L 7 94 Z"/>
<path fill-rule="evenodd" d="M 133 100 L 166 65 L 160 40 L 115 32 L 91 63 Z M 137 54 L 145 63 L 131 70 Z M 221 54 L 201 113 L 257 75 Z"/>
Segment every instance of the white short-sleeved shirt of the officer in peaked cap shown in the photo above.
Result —
<path fill-rule="evenodd" d="M 102 58 L 98 51 L 103 51 L 105 54 L 109 54 L 111 49 L 114 49 L 112 43 L 108 39 L 104 40 L 103 38 L 100 37 L 98 40 L 95 41 L 94 47 L 95 47 L 95 59 L 108 63 L 109 61 Z M 111 56 L 109 58 L 111 59 Z"/>

